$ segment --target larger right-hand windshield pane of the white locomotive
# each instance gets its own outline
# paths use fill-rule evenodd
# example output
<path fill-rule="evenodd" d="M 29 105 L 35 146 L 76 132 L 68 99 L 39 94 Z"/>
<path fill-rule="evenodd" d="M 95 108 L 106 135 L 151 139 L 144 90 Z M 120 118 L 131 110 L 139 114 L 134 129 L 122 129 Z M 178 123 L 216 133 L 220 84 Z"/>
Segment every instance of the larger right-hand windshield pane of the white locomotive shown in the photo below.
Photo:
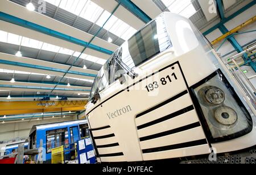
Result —
<path fill-rule="evenodd" d="M 123 47 L 122 61 L 132 69 L 170 47 L 164 18 L 159 16 L 128 40 L 127 47 Z"/>

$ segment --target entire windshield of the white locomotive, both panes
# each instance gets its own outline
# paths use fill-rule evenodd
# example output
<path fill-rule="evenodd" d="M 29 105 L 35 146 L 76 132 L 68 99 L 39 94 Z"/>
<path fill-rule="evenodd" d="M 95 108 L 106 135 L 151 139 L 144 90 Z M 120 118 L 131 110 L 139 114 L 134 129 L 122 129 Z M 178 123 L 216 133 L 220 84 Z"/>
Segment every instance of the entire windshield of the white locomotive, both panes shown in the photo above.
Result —
<path fill-rule="evenodd" d="M 134 69 L 136 66 L 150 60 L 170 47 L 172 47 L 172 44 L 166 30 L 164 18 L 160 15 L 123 43 L 110 59 L 106 61 L 93 82 L 89 101 L 95 93 L 104 90 L 117 80 L 117 72 L 119 70 L 125 71 L 115 61 L 112 61 L 115 56 L 118 55 L 118 59 L 127 67 Z"/>

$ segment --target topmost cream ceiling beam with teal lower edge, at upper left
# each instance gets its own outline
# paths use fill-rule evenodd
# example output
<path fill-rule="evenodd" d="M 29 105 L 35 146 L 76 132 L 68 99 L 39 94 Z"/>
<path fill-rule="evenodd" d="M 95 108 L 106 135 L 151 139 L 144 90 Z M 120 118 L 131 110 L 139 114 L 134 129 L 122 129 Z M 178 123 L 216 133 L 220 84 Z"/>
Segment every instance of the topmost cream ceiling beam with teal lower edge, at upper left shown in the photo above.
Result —
<path fill-rule="evenodd" d="M 88 46 L 92 49 L 97 49 L 98 52 L 107 52 L 107 55 L 118 48 L 117 45 L 100 38 L 96 38 L 90 45 L 86 45 L 93 35 L 53 18 L 49 18 L 39 12 L 28 11 L 26 7 L 20 6 L 14 2 L 7 0 L 0 1 L 0 11 L 3 14 L 7 14 L 7 16 L 3 16 L 3 18 L 7 17 L 6 20 L 11 20 L 11 22 L 17 23 L 18 25 L 28 27 L 31 30 L 39 30 L 39 32 L 44 32 L 44 34 L 56 36 L 63 40 L 75 42 L 83 47 Z"/>

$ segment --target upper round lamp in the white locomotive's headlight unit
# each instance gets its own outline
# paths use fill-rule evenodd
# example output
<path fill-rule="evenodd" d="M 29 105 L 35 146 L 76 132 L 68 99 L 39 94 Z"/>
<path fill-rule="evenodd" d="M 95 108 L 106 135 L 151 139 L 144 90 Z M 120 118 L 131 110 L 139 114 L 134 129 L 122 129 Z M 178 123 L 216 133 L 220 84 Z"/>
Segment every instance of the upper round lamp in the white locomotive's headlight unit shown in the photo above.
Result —
<path fill-rule="evenodd" d="M 216 86 L 210 86 L 205 91 L 205 99 L 213 105 L 220 105 L 225 100 L 225 93 Z"/>

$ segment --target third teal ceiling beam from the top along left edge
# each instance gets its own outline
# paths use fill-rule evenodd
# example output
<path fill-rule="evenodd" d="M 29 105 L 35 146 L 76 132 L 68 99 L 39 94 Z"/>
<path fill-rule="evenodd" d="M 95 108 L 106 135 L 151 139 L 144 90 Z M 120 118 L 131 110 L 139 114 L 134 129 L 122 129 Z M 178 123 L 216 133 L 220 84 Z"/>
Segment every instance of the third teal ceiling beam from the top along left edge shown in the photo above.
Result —
<path fill-rule="evenodd" d="M 70 88 L 59 88 L 59 87 L 38 87 L 38 86 L 18 86 L 18 85 L 0 85 L 0 87 L 5 88 L 19 88 L 19 89 L 40 89 L 40 90 L 65 90 L 65 91 L 86 91 L 87 89 L 70 89 Z"/>

